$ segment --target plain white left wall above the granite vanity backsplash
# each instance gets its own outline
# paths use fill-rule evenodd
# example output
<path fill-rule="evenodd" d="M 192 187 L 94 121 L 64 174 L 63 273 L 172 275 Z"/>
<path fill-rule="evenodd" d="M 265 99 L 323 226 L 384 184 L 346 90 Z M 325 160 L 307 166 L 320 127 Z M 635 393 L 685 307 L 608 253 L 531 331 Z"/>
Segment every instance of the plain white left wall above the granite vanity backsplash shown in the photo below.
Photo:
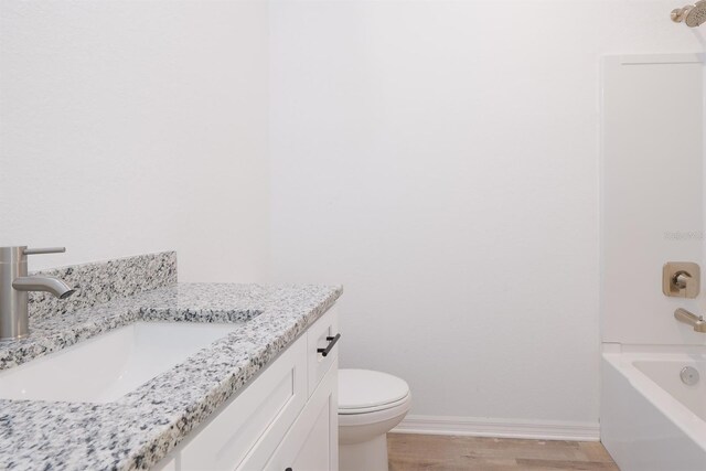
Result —
<path fill-rule="evenodd" d="M 3 0 L 0 21 L 0 245 L 266 277 L 265 0 Z"/>

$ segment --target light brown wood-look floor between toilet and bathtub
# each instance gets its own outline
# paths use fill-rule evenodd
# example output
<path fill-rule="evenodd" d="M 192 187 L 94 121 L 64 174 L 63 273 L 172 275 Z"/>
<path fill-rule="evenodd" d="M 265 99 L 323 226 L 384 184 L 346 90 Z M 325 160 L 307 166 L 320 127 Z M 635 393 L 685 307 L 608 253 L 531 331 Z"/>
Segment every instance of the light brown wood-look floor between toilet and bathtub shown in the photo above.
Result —
<path fill-rule="evenodd" d="M 619 471 L 597 441 L 388 433 L 387 449 L 391 471 Z"/>

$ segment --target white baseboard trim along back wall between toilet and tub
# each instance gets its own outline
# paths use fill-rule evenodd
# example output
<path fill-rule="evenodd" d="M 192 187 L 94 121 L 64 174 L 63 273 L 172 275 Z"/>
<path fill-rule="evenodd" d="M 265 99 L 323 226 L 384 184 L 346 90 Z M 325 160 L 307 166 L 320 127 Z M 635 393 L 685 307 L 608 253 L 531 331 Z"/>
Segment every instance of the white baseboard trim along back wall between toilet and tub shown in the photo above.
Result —
<path fill-rule="evenodd" d="M 392 432 L 535 440 L 600 440 L 598 422 L 512 420 L 484 417 L 407 416 Z"/>

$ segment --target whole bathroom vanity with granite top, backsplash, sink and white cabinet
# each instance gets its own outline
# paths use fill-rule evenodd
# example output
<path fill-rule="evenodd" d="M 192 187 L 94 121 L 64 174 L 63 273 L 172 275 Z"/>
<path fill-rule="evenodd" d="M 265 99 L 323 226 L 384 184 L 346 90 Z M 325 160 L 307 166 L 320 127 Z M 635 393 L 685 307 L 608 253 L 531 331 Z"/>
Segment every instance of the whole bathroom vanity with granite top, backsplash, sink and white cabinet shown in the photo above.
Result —
<path fill-rule="evenodd" d="M 0 469 L 338 469 L 340 286 L 176 283 L 175 254 L 47 271 L 0 343 Z"/>

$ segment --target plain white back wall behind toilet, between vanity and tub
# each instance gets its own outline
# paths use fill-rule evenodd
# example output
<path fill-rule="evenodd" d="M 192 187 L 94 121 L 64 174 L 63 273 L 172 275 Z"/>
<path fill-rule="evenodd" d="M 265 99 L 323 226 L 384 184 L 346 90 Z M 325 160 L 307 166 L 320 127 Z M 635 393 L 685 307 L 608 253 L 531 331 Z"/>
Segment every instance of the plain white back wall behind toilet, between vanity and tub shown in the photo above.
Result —
<path fill-rule="evenodd" d="M 345 285 L 343 366 L 597 430 L 599 57 L 703 51 L 673 8 L 272 3 L 272 271 Z"/>

